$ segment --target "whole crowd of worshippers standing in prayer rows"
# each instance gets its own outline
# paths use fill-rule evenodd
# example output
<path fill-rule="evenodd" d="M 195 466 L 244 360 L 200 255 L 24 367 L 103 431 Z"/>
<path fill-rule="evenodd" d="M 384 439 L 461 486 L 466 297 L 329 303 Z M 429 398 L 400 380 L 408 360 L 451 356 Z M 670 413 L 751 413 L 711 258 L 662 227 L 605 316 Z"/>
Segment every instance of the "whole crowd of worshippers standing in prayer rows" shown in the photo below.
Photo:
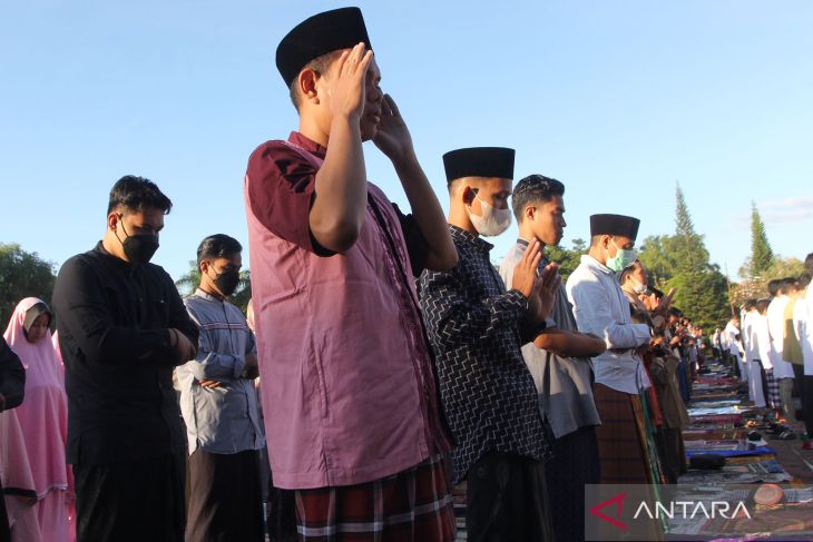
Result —
<path fill-rule="evenodd" d="M 300 125 L 248 159 L 249 317 L 227 300 L 241 244 L 203 239 L 182 299 L 150 263 L 173 203 L 119 179 L 52 308 L 23 299 L 4 335 L 0 540 L 452 541 L 466 481 L 468 540 L 570 542 L 588 484 L 674 483 L 705 339 L 648 280 L 639 220 L 590 216 L 562 282 L 565 185 L 515 185 L 510 148 L 450 150 L 444 216 L 359 9 L 296 26 L 276 65 Z M 368 140 L 409 214 L 368 180 Z M 498 270 L 484 237 L 512 218 Z"/>

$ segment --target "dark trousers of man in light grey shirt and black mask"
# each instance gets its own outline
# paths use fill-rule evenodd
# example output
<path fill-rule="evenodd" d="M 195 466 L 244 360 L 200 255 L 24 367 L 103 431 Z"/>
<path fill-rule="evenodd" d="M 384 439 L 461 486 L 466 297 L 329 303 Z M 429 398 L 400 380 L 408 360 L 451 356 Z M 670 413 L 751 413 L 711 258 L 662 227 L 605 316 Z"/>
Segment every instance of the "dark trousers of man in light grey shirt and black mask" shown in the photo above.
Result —
<path fill-rule="evenodd" d="M 189 487 L 187 542 L 265 539 L 258 452 L 214 454 L 196 450 L 189 456 Z"/>

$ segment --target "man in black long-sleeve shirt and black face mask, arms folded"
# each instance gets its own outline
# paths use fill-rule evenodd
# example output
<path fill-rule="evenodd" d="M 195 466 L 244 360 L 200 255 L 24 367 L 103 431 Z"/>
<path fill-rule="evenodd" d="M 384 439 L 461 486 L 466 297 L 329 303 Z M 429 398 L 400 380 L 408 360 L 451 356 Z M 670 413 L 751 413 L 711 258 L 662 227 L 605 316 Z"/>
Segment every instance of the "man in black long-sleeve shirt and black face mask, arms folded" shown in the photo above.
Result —
<path fill-rule="evenodd" d="M 79 542 L 184 539 L 173 369 L 195 357 L 198 331 L 149 263 L 172 205 L 147 179 L 119 179 L 105 237 L 66 262 L 53 288 Z"/>

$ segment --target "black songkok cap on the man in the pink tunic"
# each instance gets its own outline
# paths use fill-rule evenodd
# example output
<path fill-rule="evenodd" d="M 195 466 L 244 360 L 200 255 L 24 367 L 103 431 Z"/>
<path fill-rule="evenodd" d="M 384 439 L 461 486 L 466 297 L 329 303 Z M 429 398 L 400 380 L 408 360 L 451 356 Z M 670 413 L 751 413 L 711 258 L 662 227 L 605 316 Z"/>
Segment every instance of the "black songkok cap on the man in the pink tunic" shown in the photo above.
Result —
<path fill-rule="evenodd" d="M 302 68 L 314 58 L 339 49 L 349 49 L 364 42 L 368 49 L 370 37 L 359 8 L 340 8 L 300 22 L 276 47 L 276 69 L 291 86 Z"/>

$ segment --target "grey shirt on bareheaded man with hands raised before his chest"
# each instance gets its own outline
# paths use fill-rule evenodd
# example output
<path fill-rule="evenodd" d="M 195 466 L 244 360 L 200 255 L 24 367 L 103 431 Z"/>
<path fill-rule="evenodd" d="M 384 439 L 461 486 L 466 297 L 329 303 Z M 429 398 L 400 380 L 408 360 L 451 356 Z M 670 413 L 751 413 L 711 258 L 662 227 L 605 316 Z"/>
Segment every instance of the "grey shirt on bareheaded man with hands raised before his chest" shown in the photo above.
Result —
<path fill-rule="evenodd" d="M 527 247 L 528 242 L 518 239 L 506 254 L 500 265 L 500 275 L 507 285 L 511 284 L 513 269 L 522 259 Z M 547 264 L 542 258 L 540 270 Z M 578 332 L 564 284 L 559 286 L 554 309 L 547 321 L 547 328 L 554 327 Z M 589 357 L 560 357 L 538 348 L 533 343 L 522 346 L 522 357 L 539 393 L 539 408 L 548 418 L 557 438 L 580 427 L 601 424 L 592 398 L 592 361 Z"/>

